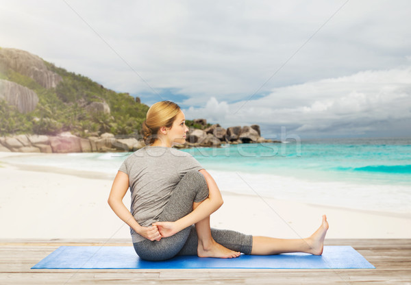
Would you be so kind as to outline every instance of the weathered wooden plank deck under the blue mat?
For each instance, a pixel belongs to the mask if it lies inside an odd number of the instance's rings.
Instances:
[[[130,245],[112,240],[105,245]],[[401,284],[411,285],[411,239],[330,239],[376,269],[30,269],[60,245],[93,240],[0,240],[0,284]]]

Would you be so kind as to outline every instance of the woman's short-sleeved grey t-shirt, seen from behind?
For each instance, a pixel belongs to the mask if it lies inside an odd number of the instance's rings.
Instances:
[[[119,171],[129,177],[130,212],[143,227],[158,221],[175,186],[187,171],[203,169],[190,153],[171,147],[143,147],[125,159]],[[145,238],[131,227],[133,243]]]

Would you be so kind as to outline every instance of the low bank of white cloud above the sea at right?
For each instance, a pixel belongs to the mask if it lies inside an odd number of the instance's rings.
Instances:
[[[310,132],[355,135],[382,130],[382,123],[391,127],[398,120],[411,123],[410,107],[411,67],[404,67],[275,88],[270,95],[247,103],[219,103],[212,98],[205,108],[187,110],[186,117],[212,114],[209,118],[223,127],[238,123],[271,126],[262,128],[266,136],[273,136],[281,126],[302,136]],[[407,132],[402,126],[390,131]]]

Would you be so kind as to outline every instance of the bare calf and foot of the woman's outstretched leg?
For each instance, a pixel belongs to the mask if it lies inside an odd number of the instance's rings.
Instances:
[[[266,236],[253,236],[253,255],[271,255],[288,252],[306,252],[314,255],[323,253],[325,234],[328,230],[327,217],[323,216],[323,222],[314,234],[308,238],[282,239]]]

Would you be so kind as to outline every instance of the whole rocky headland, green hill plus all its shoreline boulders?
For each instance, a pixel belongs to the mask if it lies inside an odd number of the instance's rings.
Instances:
[[[27,51],[0,48],[0,151],[132,151],[149,106]],[[176,147],[264,143],[260,126],[224,129],[186,120],[187,141]]]

